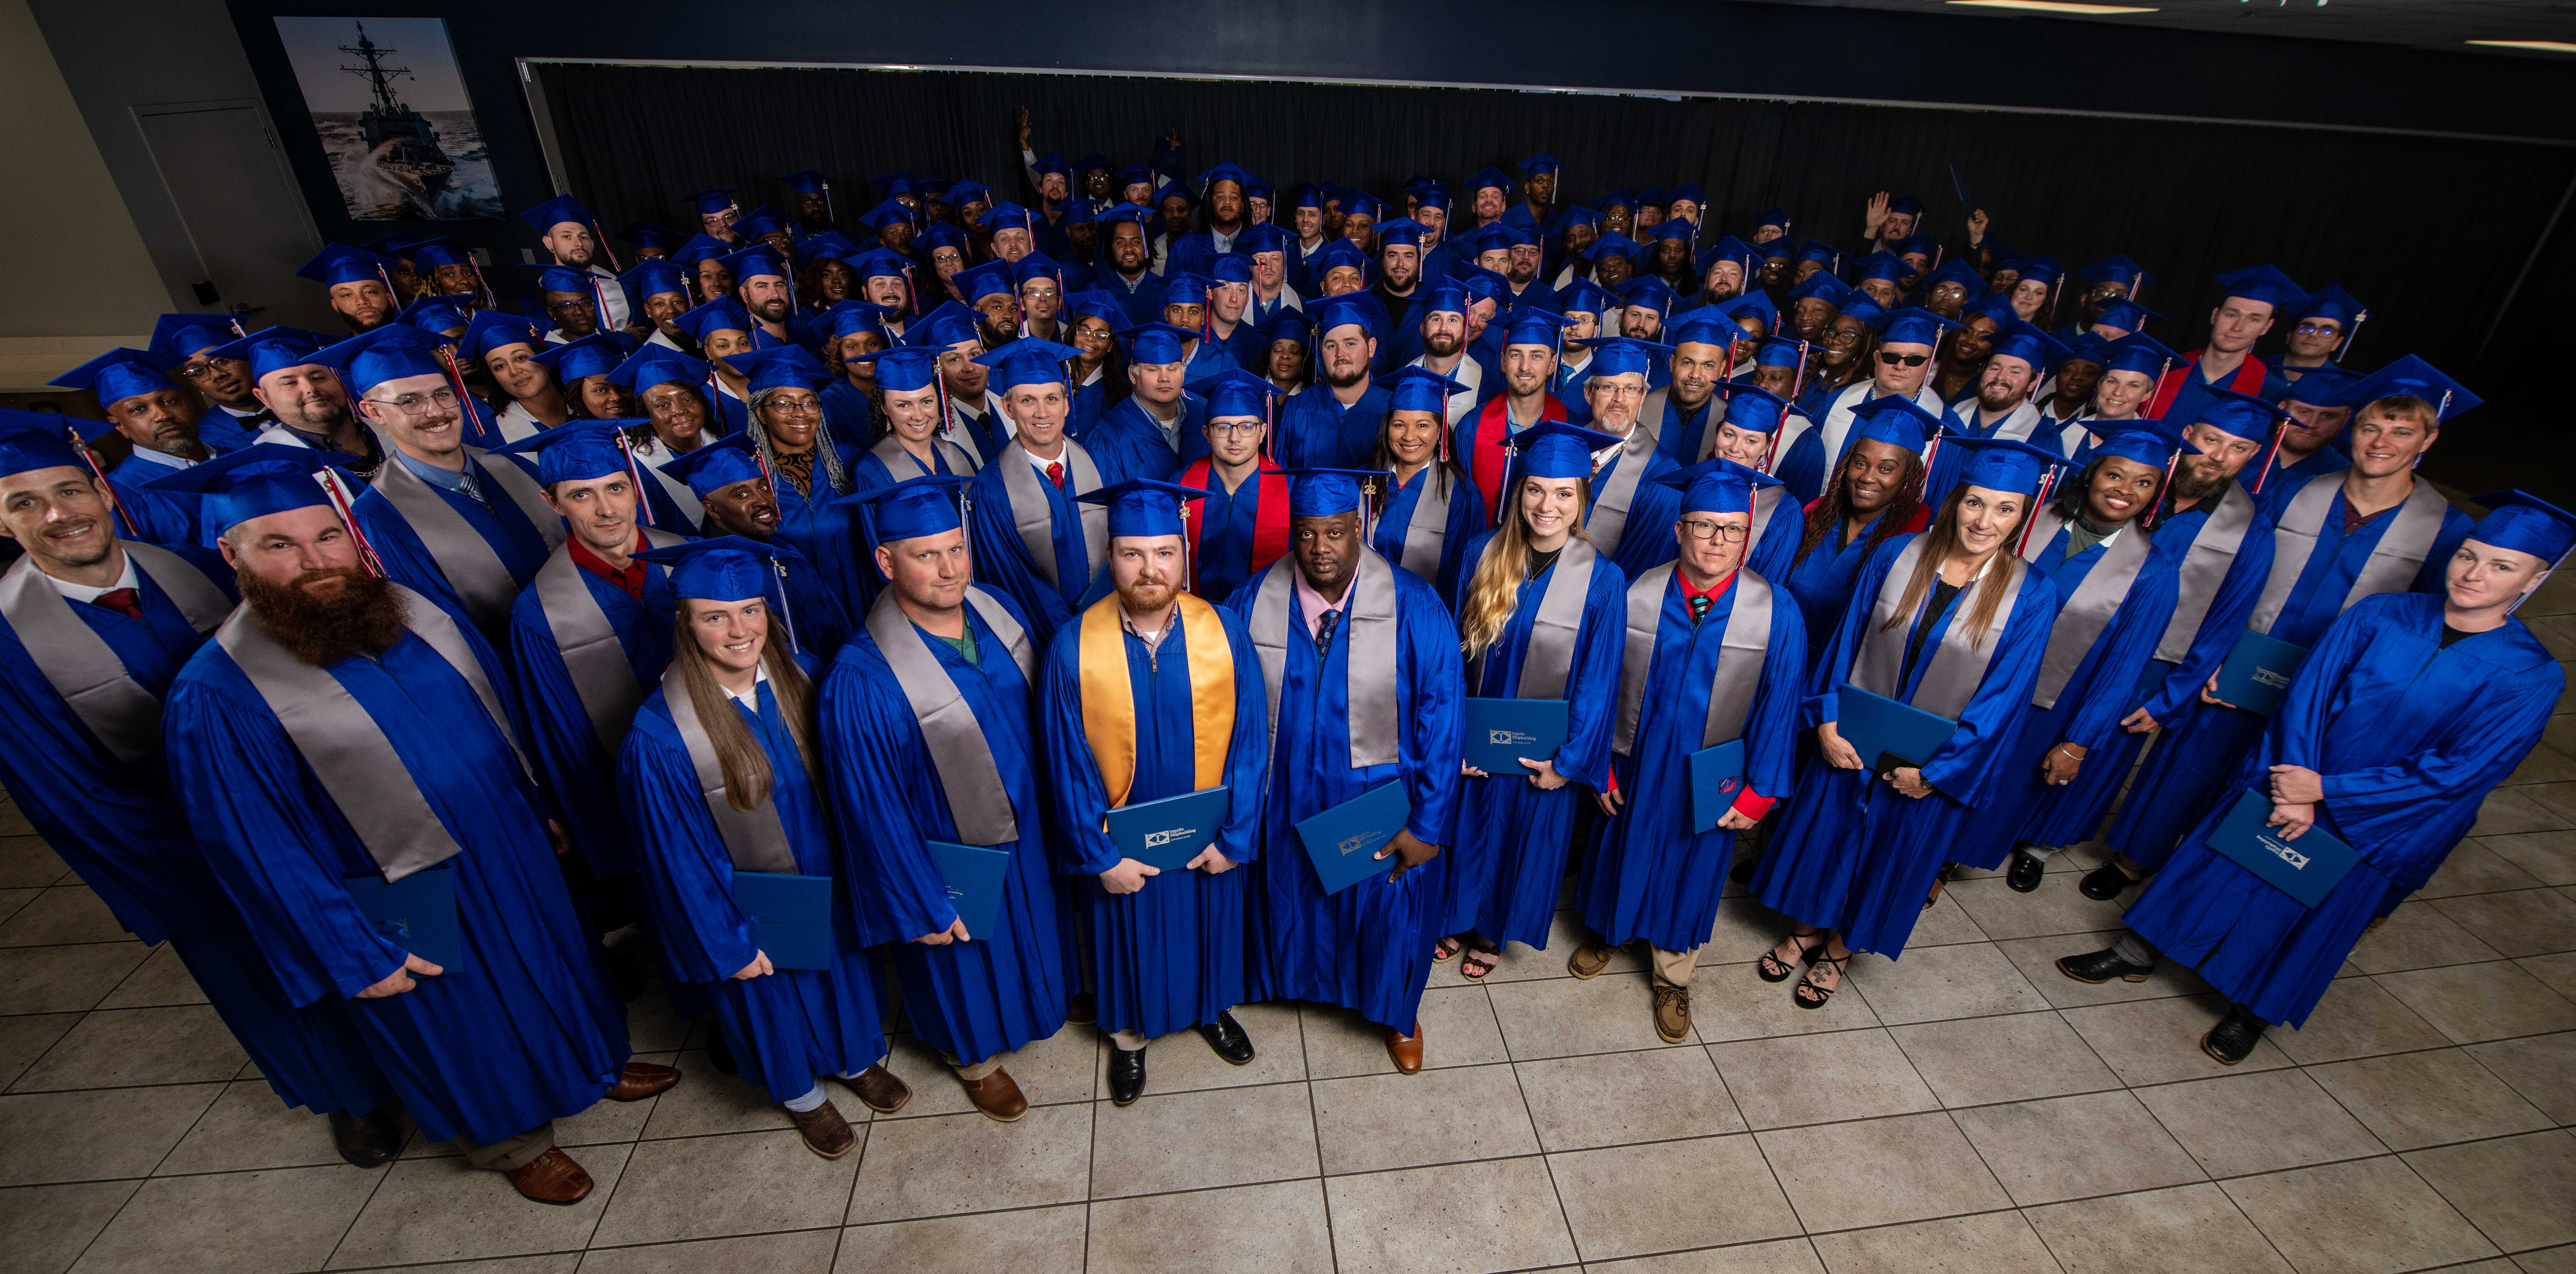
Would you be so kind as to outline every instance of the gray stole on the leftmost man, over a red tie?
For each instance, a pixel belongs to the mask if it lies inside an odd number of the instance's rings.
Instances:
[[[191,629],[206,632],[232,611],[224,591],[185,557],[131,539],[118,544],[134,557],[134,570],[170,593]],[[160,699],[126,673],[126,663],[98,629],[72,614],[72,601],[36,570],[33,557],[21,557],[0,573],[0,619],[18,632],[26,658],[44,673],[46,686],[54,686],[108,756],[139,766],[160,748]]]

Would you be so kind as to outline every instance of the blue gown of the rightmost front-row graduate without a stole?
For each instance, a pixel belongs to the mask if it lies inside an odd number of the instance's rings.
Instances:
[[[2352,603],[2223,799],[2128,908],[2130,928],[2254,1016],[2306,1024],[2380,900],[2432,879],[2566,694],[2566,673],[2519,619],[2450,650],[2439,642],[2439,596]],[[2272,766],[2324,774],[2316,830],[2360,854],[2316,910],[2205,843],[2236,792],[2267,789]]]

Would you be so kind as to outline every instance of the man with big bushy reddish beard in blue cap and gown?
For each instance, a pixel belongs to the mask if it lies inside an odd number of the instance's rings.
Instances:
[[[170,776],[289,1003],[343,1006],[425,1140],[574,1202],[590,1176],[551,1122],[680,1073],[629,1063],[507,665],[451,601],[368,570],[314,459],[245,449],[173,475],[206,490],[242,606],[170,683]],[[453,892],[456,965],[353,895],[422,872],[446,874],[422,905]]]

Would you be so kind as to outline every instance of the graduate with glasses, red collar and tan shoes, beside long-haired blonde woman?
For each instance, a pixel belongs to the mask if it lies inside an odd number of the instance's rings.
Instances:
[[[1747,565],[1754,485],[1713,459],[1667,475],[1682,487],[1674,562],[1638,575],[1620,598],[1625,640],[1610,766],[1595,802],[1592,851],[1574,908],[1595,939],[1566,959],[1574,977],[1600,977],[1610,957],[1643,939],[1654,959],[1654,1029],[1690,1039],[1690,983],[1700,944],[1718,921],[1736,833],[1790,792],[1806,686],[1806,627],[1788,591]],[[1692,830],[1700,799],[1690,756],[1744,745],[1741,774],[1713,792],[1726,812]]]

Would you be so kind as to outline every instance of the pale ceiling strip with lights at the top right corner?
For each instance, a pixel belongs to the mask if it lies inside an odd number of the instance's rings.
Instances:
[[[2004,8],[1953,5],[1945,0],[1770,0],[1808,8],[1878,8],[1904,13],[1953,13],[1960,18],[2048,18],[2105,26],[2161,26],[2172,31],[2215,31],[2231,36],[2349,39],[2370,44],[2414,44],[2496,57],[2540,57],[2568,62],[2576,54],[2478,49],[2473,39],[2548,39],[2576,44],[2576,0],[2107,0],[2151,5],[2156,13],[2074,15]]]

